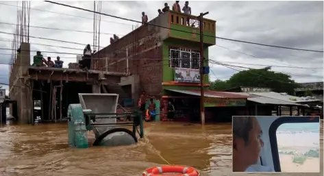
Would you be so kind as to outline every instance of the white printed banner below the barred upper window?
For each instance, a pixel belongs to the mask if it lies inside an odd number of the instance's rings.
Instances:
[[[200,82],[199,69],[192,68],[175,68],[176,82]]]

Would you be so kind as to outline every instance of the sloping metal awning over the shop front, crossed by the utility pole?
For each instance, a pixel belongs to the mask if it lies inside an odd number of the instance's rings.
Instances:
[[[173,92],[179,92],[188,95],[195,95],[200,96],[200,90],[175,90],[175,89],[166,89]],[[247,95],[238,95],[236,92],[217,92],[212,90],[205,90],[204,92],[205,97],[212,97],[212,98],[234,98],[234,99],[247,99]]]

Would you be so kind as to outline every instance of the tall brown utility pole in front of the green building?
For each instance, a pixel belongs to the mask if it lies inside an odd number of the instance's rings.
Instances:
[[[209,12],[200,13],[199,15],[199,29],[200,29],[200,118],[201,125],[205,125],[205,106],[204,106],[204,85],[203,85],[203,16]]]

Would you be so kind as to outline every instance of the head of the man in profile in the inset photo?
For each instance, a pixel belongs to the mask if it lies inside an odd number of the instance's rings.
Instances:
[[[233,172],[245,172],[260,158],[262,129],[253,116],[234,116],[232,124]]]

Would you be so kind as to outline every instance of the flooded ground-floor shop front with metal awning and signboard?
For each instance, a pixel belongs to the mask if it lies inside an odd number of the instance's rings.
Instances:
[[[167,105],[169,101],[175,105],[177,114],[175,121],[200,121],[200,90],[167,89],[166,91],[169,95],[162,97],[162,105]],[[232,116],[248,114],[246,103],[247,96],[205,90],[205,121],[207,123],[230,122]],[[162,106],[162,114],[165,111]],[[161,121],[168,121],[168,119],[162,115]]]

